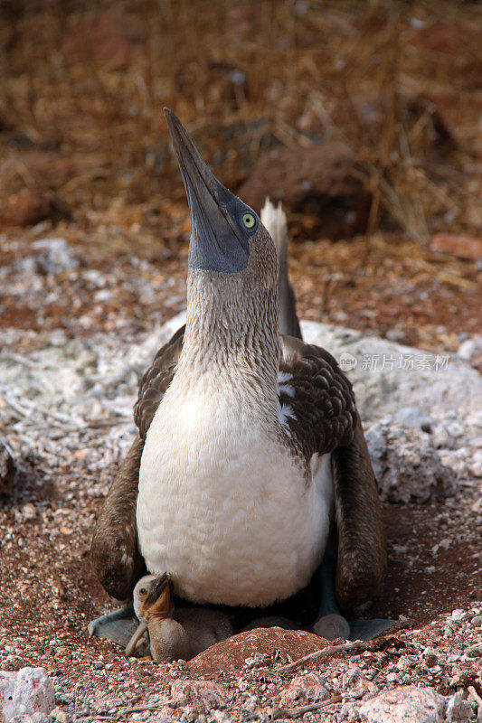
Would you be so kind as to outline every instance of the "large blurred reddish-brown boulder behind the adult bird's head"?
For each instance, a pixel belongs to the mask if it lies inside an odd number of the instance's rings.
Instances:
[[[239,195],[255,210],[269,196],[288,211],[310,213],[325,238],[342,239],[366,230],[372,197],[362,179],[343,144],[279,148],[260,158]]]

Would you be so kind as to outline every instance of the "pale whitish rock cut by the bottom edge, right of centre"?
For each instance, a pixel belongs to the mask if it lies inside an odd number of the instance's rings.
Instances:
[[[445,699],[432,688],[404,685],[366,700],[358,712],[370,723],[442,723],[444,709]]]

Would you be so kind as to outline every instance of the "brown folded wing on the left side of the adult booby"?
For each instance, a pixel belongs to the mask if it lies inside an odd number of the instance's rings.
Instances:
[[[137,546],[139,467],[147,429],[171,383],[183,348],[184,326],[157,353],[146,371],[134,406],[139,436],[130,447],[102,506],[90,547],[90,561],[109,595],[125,600],[146,567]]]

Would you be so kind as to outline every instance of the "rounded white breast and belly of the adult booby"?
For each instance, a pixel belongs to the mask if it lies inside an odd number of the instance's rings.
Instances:
[[[187,400],[188,399],[188,400]],[[250,409],[171,385],[146,437],[137,530],[147,568],[196,602],[261,606],[304,587],[326,546],[329,455],[313,482]]]

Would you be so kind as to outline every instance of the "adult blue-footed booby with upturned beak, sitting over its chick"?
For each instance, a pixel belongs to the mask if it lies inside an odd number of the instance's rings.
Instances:
[[[119,599],[147,569],[168,572],[185,600],[253,607],[317,573],[314,630],[347,637],[337,604],[364,603],[385,568],[352,386],[301,339],[280,211],[263,216],[277,254],[165,114],[191,211],[186,324],[141,382],[139,434],[100,512],[92,564]],[[102,621],[90,631],[104,634]]]

